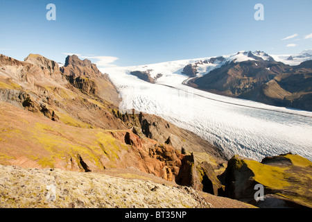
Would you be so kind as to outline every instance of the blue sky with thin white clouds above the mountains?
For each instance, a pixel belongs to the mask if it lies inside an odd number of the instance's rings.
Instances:
[[[48,3],[55,21],[46,19]],[[256,3],[263,21],[254,19]],[[293,54],[312,49],[311,9],[311,0],[1,0],[0,53],[62,63],[76,53],[108,67],[241,50]]]

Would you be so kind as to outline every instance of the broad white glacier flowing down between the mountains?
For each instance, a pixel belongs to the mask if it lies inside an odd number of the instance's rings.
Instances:
[[[235,99],[184,85],[189,77],[181,74],[183,67],[199,60],[202,59],[100,70],[116,85],[122,99],[121,112],[135,109],[156,114],[196,133],[229,158],[241,155],[260,161],[291,152],[312,160],[312,112]],[[219,65],[205,68],[211,70]],[[153,84],[130,75],[130,71],[147,69],[163,76]]]

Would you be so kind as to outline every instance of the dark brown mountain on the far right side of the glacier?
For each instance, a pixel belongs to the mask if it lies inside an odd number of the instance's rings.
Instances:
[[[312,110],[311,60],[290,66],[259,51],[243,52],[243,55],[248,60],[228,61],[204,76],[192,78],[187,84],[216,94]]]

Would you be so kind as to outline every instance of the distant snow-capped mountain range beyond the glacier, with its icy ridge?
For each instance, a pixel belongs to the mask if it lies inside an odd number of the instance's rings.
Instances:
[[[239,51],[229,56],[129,67],[150,83],[166,74],[188,76],[185,85],[268,105],[312,111],[312,50],[293,56]]]

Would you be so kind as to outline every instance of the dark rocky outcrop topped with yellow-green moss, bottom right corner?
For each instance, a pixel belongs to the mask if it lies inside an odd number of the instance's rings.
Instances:
[[[312,162],[287,153],[262,162],[235,155],[224,173],[225,195],[258,207],[312,207]],[[255,198],[263,186],[263,200]]]

